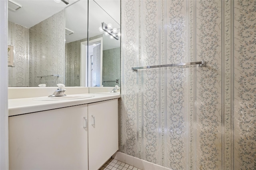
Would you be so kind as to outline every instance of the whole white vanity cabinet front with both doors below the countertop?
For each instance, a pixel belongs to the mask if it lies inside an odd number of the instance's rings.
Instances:
[[[9,168],[97,170],[118,150],[118,99],[9,117]]]

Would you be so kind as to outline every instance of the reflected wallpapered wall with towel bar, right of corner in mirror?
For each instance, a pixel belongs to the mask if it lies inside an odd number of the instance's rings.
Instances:
[[[30,28],[30,86],[36,87],[44,83],[55,87],[58,83],[64,83],[64,23],[64,10],[62,10]],[[60,75],[60,77],[37,77],[44,75]]]

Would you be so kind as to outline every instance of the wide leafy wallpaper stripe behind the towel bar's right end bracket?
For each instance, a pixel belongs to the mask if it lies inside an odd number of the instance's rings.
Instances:
[[[221,167],[221,1],[196,3],[196,59],[206,60],[207,67],[196,74],[196,162],[197,169]],[[210,15],[209,15],[210,13]],[[203,47],[203,48],[200,48]],[[202,128],[203,127],[203,128]]]

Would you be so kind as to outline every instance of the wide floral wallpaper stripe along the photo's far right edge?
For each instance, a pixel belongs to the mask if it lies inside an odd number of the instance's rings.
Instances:
[[[256,167],[256,1],[234,4],[234,164]]]

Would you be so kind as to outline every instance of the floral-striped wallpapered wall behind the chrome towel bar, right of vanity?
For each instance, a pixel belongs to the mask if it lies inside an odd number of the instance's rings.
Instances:
[[[255,168],[256,1],[121,4],[119,150],[175,170]]]

